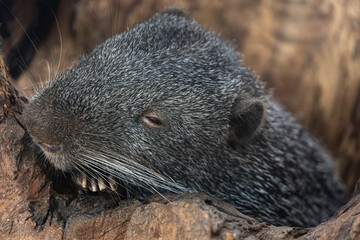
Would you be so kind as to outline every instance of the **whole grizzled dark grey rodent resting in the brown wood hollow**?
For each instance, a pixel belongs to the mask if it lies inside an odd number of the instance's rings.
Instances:
[[[321,146],[234,48],[170,9],[111,37],[33,97],[25,125],[56,168],[128,197],[204,191],[276,225],[346,200]]]

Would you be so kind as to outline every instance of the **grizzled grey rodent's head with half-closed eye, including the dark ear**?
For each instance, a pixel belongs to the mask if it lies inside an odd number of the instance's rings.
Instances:
[[[232,46],[168,10],[84,56],[30,101],[24,121],[61,170],[193,188],[186,176],[209,177],[229,142],[259,132],[263,96]]]

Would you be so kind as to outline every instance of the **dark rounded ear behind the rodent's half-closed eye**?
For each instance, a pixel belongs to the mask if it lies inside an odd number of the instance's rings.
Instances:
[[[230,118],[230,140],[245,142],[254,137],[264,122],[265,107],[261,99],[235,101]]]

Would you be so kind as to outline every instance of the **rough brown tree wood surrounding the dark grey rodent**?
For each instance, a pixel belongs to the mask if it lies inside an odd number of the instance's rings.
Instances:
[[[14,11],[26,28],[31,8],[20,2]],[[55,24],[18,89],[28,87],[29,79],[44,81],[45,61],[52,67],[49,80],[58,66],[61,72],[63,64],[71,65],[106,36],[169,5],[183,7],[233,41],[275,96],[336,154],[352,188],[360,176],[358,0],[63,0],[58,10],[63,50]],[[23,35],[15,21],[11,27],[14,35],[5,50]],[[59,192],[18,123],[24,102],[8,81],[1,56],[0,239],[360,239],[360,194],[328,222],[299,229],[258,223],[204,194],[168,196],[168,203],[156,196],[139,202]]]

